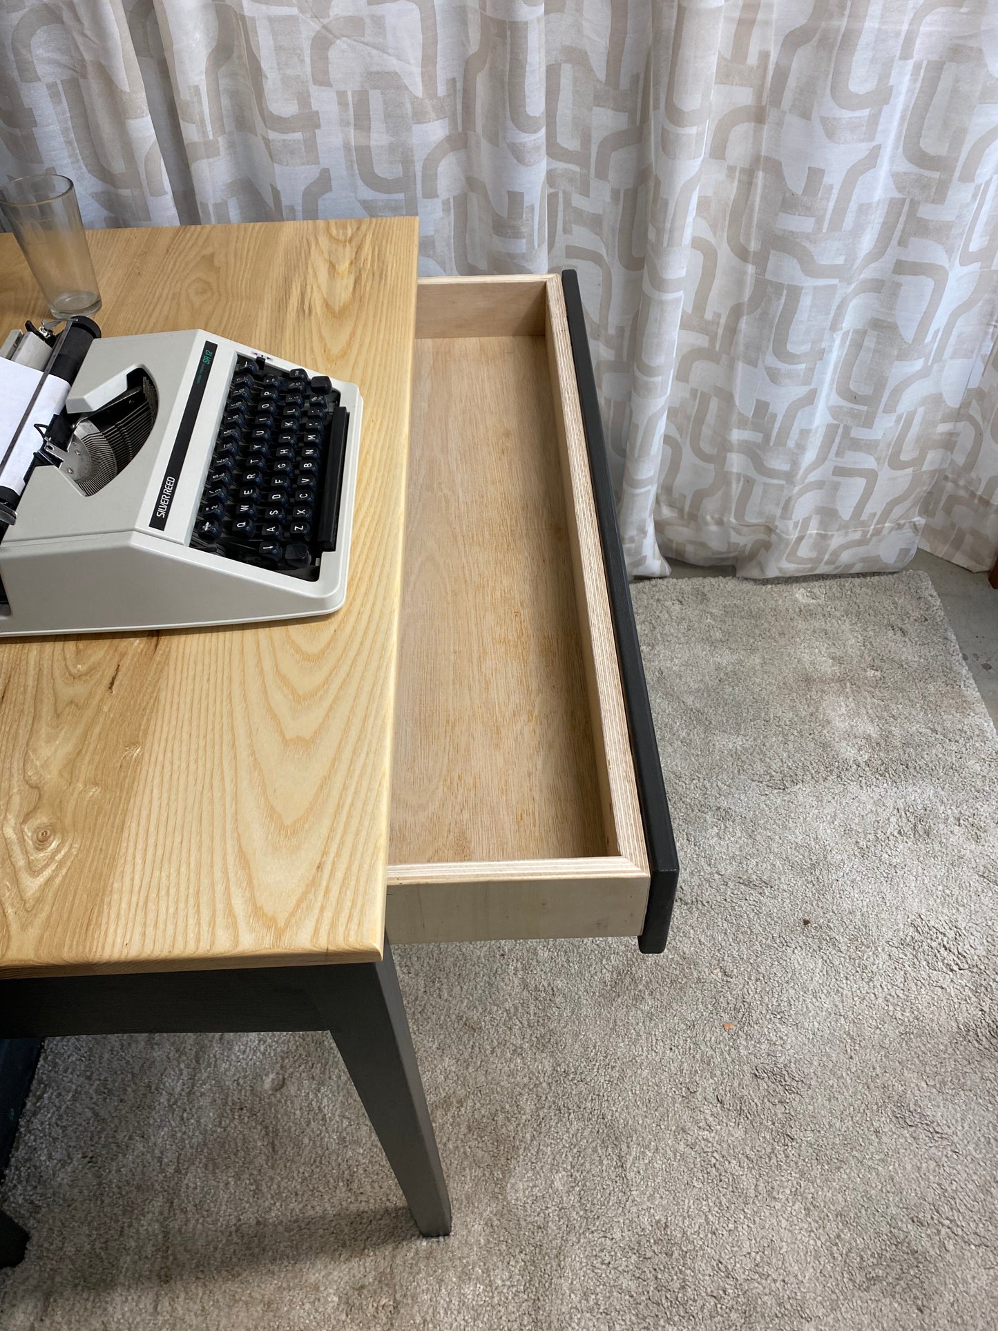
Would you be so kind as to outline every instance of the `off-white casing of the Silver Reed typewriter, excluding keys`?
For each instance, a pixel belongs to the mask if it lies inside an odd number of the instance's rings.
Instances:
[[[134,457],[96,492],[75,480],[72,449],[59,465],[31,471],[0,542],[9,604],[0,636],[238,624],[343,604],[363,407],[353,383],[331,381],[349,429],[335,548],[318,556],[318,567],[263,567],[192,544],[240,357],[267,371],[295,369],[201,329],[90,345],[69,387],[71,418],[120,398],[141,369],[156,386],[154,421]]]

